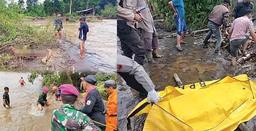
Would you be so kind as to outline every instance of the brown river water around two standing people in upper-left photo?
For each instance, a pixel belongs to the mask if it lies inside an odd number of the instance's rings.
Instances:
[[[53,28],[53,20],[30,21],[32,24],[39,25],[42,28],[50,24]],[[61,47],[55,50],[58,57],[50,59],[49,70],[62,70],[59,64],[70,64],[68,68],[73,68],[76,72],[116,72],[116,20],[103,20],[102,22],[88,22],[89,32],[85,41],[85,57],[79,58],[79,39],[77,22],[63,22]],[[54,35],[54,33],[52,34]],[[58,38],[58,36],[57,36]],[[31,69],[44,70],[46,65],[41,65],[41,59],[27,62]],[[38,66],[39,65],[39,66]],[[64,66],[63,66],[64,67]]]

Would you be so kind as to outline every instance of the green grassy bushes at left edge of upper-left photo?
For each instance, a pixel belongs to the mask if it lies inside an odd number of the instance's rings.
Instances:
[[[46,47],[55,46],[57,43],[52,39],[53,29],[34,26],[23,22],[23,15],[17,4],[9,4],[6,7],[5,0],[0,0],[0,66],[3,68],[21,67],[14,62],[17,57],[10,51],[12,47]],[[16,65],[14,63],[17,63]]]

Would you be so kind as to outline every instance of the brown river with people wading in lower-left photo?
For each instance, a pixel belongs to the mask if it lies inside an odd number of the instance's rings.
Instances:
[[[38,112],[36,102],[41,94],[41,78],[34,81],[34,85],[28,82],[30,73],[0,72],[0,93],[3,88],[9,87],[11,109],[3,107],[3,99],[0,100],[0,131],[50,131],[52,111],[61,106],[54,98],[50,100],[51,106]],[[20,86],[19,80],[23,77],[26,84]],[[50,96],[48,92],[47,97]]]

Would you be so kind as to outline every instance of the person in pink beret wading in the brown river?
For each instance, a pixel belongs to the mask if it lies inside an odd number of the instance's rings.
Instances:
[[[41,95],[39,95],[38,97],[38,101],[37,101],[37,106],[38,106],[38,110],[43,111],[43,107],[44,106],[49,106],[49,102],[47,102],[47,92],[48,92],[48,88],[44,87],[43,88],[43,92]]]

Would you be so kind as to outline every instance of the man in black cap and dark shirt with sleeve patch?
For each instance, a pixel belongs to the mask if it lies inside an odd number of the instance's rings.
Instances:
[[[99,91],[97,90],[96,85],[96,78],[93,75],[87,75],[84,77],[83,87],[84,90],[87,90],[84,98],[82,98],[82,102],[84,102],[84,107],[81,111],[84,114],[87,114],[92,120],[106,124],[105,114],[104,112],[104,103],[100,96]],[[100,125],[98,123],[94,123],[98,126],[102,131],[105,131],[105,126]]]

